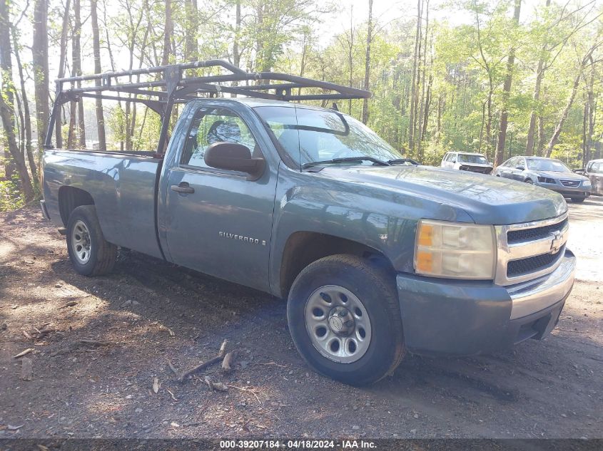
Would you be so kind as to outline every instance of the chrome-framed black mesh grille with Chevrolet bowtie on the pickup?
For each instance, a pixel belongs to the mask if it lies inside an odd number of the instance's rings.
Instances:
[[[495,283],[507,286],[537,279],[554,271],[565,254],[567,213],[552,219],[495,226]]]

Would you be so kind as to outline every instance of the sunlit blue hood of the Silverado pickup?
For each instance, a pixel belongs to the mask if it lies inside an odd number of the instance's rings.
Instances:
[[[567,211],[562,195],[514,180],[430,166],[328,166],[322,177],[463,209],[476,224],[517,224]],[[440,219],[440,218],[430,218]]]

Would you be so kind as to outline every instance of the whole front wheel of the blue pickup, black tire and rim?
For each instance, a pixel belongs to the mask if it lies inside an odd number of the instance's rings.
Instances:
[[[287,319],[305,361],[343,383],[374,383],[406,353],[395,276],[358,256],[327,256],[303,269],[290,289]]]

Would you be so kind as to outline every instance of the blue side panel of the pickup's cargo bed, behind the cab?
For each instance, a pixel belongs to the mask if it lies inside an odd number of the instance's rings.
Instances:
[[[76,188],[91,195],[108,242],[162,258],[156,230],[156,181],[161,159],[154,152],[46,150],[44,199],[52,221],[65,227],[59,197]]]

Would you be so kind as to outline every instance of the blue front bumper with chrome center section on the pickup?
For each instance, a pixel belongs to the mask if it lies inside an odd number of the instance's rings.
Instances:
[[[576,257],[565,251],[551,274],[514,286],[398,274],[406,346],[413,353],[489,353],[554,328],[572,291]]]

